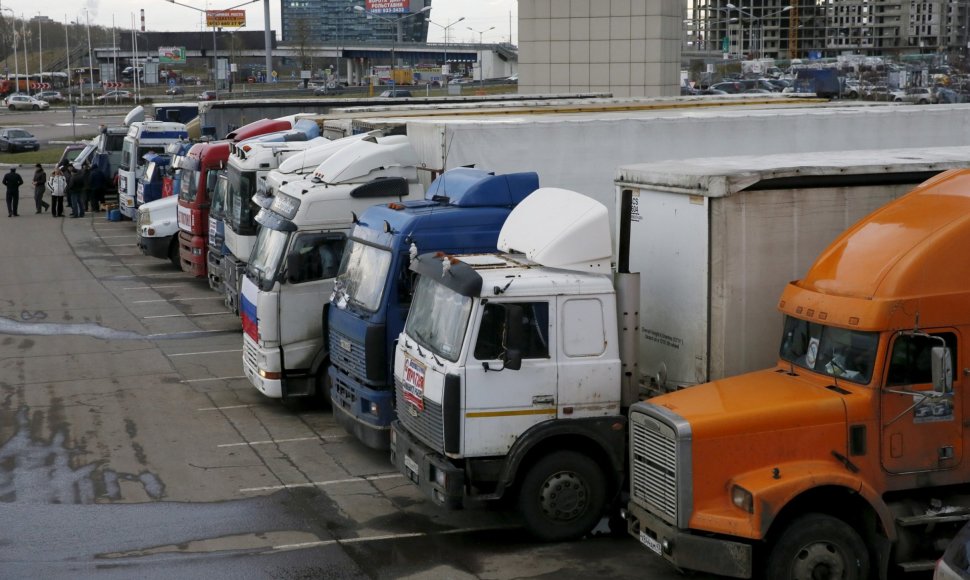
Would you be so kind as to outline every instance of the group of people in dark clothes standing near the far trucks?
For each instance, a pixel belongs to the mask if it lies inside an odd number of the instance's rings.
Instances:
[[[20,203],[20,186],[24,180],[17,173],[16,167],[3,176],[3,185],[7,188],[7,217],[17,217]],[[95,165],[85,163],[81,169],[76,169],[70,163],[62,163],[51,172],[50,178],[40,163],[34,171],[32,184],[34,186],[34,213],[43,213],[50,209],[52,217],[64,217],[64,198],[67,197],[70,217],[84,217],[88,208],[90,211],[100,211],[104,202],[104,190],[108,180],[104,172]],[[51,203],[44,201],[45,192],[50,192]]]

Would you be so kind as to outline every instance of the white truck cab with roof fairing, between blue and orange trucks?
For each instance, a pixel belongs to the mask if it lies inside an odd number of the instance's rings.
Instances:
[[[515,494],[547,540],[586,533],[623,477],[609,216],[541,188],[502,253],[419,256],[394,361],[394,465],[435,503]]]

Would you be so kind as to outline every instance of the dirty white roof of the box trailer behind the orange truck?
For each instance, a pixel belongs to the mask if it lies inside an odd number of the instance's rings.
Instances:
[[[615,177],[620,186],[727,197],[769,180],[945,171],[968,163],[970,147],[865,149],[674,159],[624,165]]]

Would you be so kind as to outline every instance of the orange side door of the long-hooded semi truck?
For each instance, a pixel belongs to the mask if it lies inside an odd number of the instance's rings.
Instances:
[[[955,331],[933,331],[950,348],[953,369],[962,368]],[[930,349],[939,340],[900,333],[893,337],[882,388],[882,464],[890,473],[952,469],[963,456],[962,373],[954,372],[950,397],[932,390]]]

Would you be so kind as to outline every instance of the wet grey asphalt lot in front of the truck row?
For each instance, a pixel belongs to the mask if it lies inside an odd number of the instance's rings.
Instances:
[[[626,536],[435,508],[328,410],[252,388],[239,320],[133,230],[26,187],[0,217],[0,578],[679,577]]]

